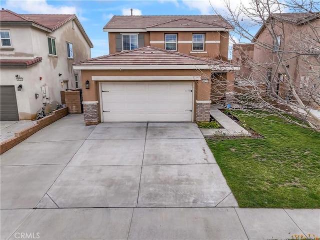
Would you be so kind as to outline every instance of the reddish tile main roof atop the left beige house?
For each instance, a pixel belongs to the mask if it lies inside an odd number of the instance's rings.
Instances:
[[[10,10],[0,11],[1,23],[35,23],[51,31],[76,18],[74,14],[16,14]]]

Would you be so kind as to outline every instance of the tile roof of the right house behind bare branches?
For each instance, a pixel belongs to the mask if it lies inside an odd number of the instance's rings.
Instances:
[[[283,20],[298,25],[316,18],[320,18],[320,13],[281,13],[271,14],[270,16],[277,20]]]

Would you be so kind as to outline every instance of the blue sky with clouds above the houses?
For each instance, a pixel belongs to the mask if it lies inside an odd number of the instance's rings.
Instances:
[[[108,54],[107,33],[103,26],[113,15],[212,15],[212,7],[222,16],[223,0],[149,0],[149,1],[47,1],[47,0],[0,0],[1,8],[18,14],[76,14],[94,48],[91,57]],[[233,2],[234,1],[234,2]],[[248,5],[250,0],[242,0]],[[232,0],[232,5],[239,4]],[[212,6],[212,7],[211,7]],[[252,31],[257,31],[257,27]],[[236,39],[236,37],[235,37]]]

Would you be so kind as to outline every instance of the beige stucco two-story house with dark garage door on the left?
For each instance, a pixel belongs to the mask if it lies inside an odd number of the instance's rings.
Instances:
[[[0,11],[1,120],[34,120],[60,91],[80,88],[72,63],[90,58],[92,43],[75,15]]]

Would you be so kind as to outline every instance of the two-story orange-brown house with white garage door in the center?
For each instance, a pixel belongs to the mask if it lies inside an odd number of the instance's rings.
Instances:
[[[85,123],[209,121],[211,77],[233,81],[232,30],[221,16],[112,17],[103,28],[110,55],[73,67],[89,85]]]

